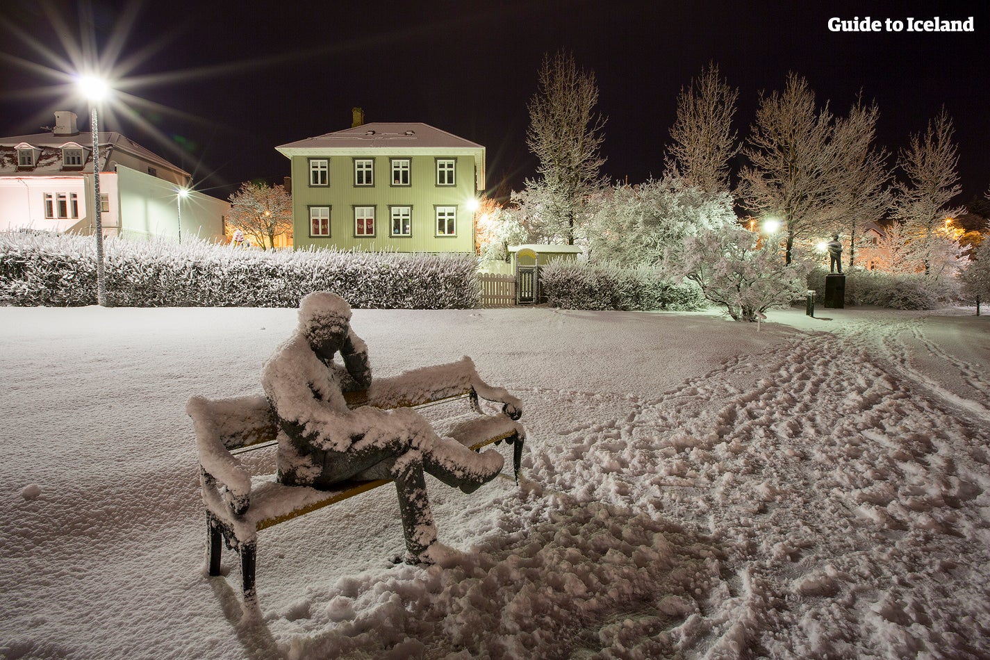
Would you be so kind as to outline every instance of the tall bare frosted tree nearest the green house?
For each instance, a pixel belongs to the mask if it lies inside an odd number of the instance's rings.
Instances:
[[[605,119],[594,111],[598,86],[594,72],[578,69],[574,55],[545,55],[540,88],[530,100],[526,144],[540,159],[537,171],[545,190],[556,200],[554,222],[568,244],[584,197],[601,182],[605,163],[599,149]],[[527,186],[537,182],[527,181]]]

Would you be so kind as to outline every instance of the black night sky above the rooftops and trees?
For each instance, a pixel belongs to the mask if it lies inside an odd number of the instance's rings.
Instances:
[[[567,48],[597,77],[608,117],[605,172],[616,180],[662,173],[677,93],[714,60],[740,88],[743,137],[760,91],[781,89],[790,70],[836,111],[859,90],[875,99],[879,142],[895,152],[944,105],[959,145],[956,201],[987,191],[990,3],[749,4],[155,0],[129,14],[134,3],[55,2],[47,12],[39,2],[3,0],[0,134],[37,133],[59,109],[88,126],[85,103],[26,62],[69,60],[63,42],[95,36],[101,51],[120,44],[117,61],[133,62],[121,86],[140,99],[108,114],[101,129],[180,164],[218,197],[248,179],[281,182],[289,162],[274,147],[348,128],[352,106],[367,121],[425,122],[479,142],[491,192],[520,189],[535,174],[525,135],[537,70],[546,52]],[[64,27],[53,27],[52,14]],[[91,21],[80,27],[80,15]],[[832,17],[866,16],[972,16],[975,32],[829,30]]]

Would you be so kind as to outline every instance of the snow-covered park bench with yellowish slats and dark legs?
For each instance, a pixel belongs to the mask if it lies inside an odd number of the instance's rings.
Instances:
[[[518,422],[522,416],[519,400],[502,388],[490,387],[482,382],[469,358],[446,366],[456,367],[463,375],[445,389],[410,395],[403,387],[404,377],[413,377],[405,378],[407,381],[416,380],[416,374],[407,372],[394,379],[383,379],[380,387],[376,382],[366,391],[345,392],[347,407],[423,410],[464,400],[469,404],[466,414],[448,415],[435,423],[438,434],[453,437],[474,450],[502,440],[512,444],[518,483],[526,438],[523,425]],[[482,410],[479,398],[502,404],[501,412],[492,414]],[[280,432],[275,413],[264,396],[214,400],[193,397],[186,412],[193,420],[199,452],[200,482],[208,525],[209,574],[220,575],[222,542],[236,550],[241,556],[246,603],[254,600],[254,565],[259,530],[305,516],[392,481],[387,473],[382,473],[373,475],[380,478],[351,480],[335,484],[329,490],[318,490],[280,484],[275,474],[250,475],[238,455],[277,446]]]

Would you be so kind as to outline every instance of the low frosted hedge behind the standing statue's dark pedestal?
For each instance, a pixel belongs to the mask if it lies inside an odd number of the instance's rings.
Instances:
[[[808,274],[808,288],[824,300],[825,268]],[[849,305],[876,305],[892,310],[935,310],[955,303],[955,282],[946,277],[891,274],[856,268],[845,275],[845,299]]]

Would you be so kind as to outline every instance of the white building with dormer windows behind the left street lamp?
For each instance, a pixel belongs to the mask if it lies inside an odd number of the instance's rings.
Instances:
[[[56,112],[51,133],[0,138],[0,231],[92,234],[93,141],[76,115]],[[202,193],[181,200],[192,177],[119,133],[101,133],[100,221],[105,236],[224,240],[231,205]]]

